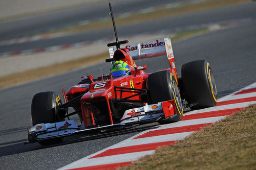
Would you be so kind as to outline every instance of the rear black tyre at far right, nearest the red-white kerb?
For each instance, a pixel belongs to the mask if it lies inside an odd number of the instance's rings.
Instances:
[[[181,75],[188,104],[196,104],[191,110],[215,106],[217,87],[210,64],[205,60],[183,64]]]

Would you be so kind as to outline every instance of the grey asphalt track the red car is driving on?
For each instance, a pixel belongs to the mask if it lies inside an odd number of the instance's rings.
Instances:
[[[183,63],[206,59],[214,70],[219,97],[256,81],[256,20],[236,27],[207,33],[173,43],[177,69]],[[166,57],[143,59],[136,62],[147,65],[147,72],[167,68]],[[56,169],[80,158],[129,138],[157,124],[148,124],[118,132],[93,135],[75,135],[61,144],[42,147],[38,143],[24,145],[26,127],[31,124],[30,105],[33,95],[41,91],[68,89],[86,74],[106,74],[111,65],[98,63],[90,67],[66,72],[0,90],[0,168],[1,169]]]

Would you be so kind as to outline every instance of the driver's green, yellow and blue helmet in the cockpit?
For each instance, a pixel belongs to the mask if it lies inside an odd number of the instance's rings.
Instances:
[[[119,78],[129,75],[131,72],[129,65],[124,61],[115,61],[111,67],[111,75],[113,78]]]

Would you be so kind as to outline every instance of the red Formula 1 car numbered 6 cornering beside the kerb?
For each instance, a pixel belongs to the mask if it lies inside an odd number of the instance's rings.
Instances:
[[[116,34],[114,19],[113,25]],[[31,106],[33,125],[28,127],[29,143],[51,144],[82,132],[152,122],[178,122],[184,108],[216,105],[217,88],[208,62],[198,60],[183,64],[182,77],[178,78],[169,38],[121,45],[124,43],[127,41],[118,41],[116,36],[116,42],[108,44],[116,47],[110,48],[110,59],[106,62],[126,62],[130,75],[119,78],[107,75],[97,80],[93,76],[84,76],[67,93],[62,89],[63,103],[56,92],[34,95]],[[145,73],[146,65],[137,66],[134,61],[163,55],[166,55],[170,68],[153,73]],[[69,113],[69,107],[75,111]],[[78,114],[81,125],[69,119],[74,114]]]

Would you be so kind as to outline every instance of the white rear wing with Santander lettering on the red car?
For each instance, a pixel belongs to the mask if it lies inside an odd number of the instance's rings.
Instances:
[[[166,55],[170,67],[176,71],[173,48],[172,43],[170,42],[170,38],[156,39],[154,41],[132,45],[120,45],[120,48],[126,48],[134,60]],[[109,48],[110,58],[113,58],[115,51],[116,47]]]

